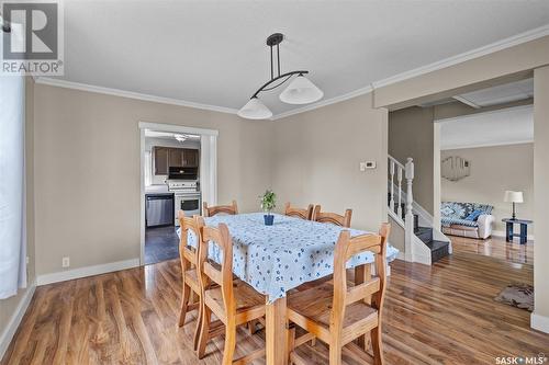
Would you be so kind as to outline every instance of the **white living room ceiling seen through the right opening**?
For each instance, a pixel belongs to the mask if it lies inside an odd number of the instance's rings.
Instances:
[[[437,122],[440,123],[440,149],[512,145],[534,140],[531,105]]]

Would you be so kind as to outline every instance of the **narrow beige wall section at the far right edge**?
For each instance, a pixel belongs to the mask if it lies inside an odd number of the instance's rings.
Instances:
[[[549,67],[534,71],[534,219],[538,227],[549,227]],[[536,231],[534,244],[534,313],[545,317],[549,331],[549,230]]]

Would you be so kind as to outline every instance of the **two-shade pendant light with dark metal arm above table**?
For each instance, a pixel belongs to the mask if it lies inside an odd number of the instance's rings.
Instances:
[[[293,76],[293,78],[288,88],[280,94],[280,100],[288,104],[309,104],[324,96],[324,93],[318,89],[311,80],[305,78],[309,73],[306,70],[291,71],[280,75],[280,49],[279,45],[284,39],[283,34],[274,33],[267,38],[267,45],[270,47],[271,52],[271,79],[267,81],[261,88],[259,88],[250,100],[244,105],[239,111],[238,115],[243,118],[248,119],[267,119],[272,116],[272,112],[258,99],[258,95],[262,91],[273,90]],[[277,70],[278,76],[274,77],[274,65],[272,60],[272,48],[277,47]],[[278,82],[278,83],[277,83]],[[276,84],[273,84],[276,83]]]

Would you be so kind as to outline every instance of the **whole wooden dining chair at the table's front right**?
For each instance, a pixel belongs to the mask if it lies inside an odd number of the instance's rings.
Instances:
[[[288,319],[306,331],[300,338],[294,338],[295,329],[290,331],[293,335],[289,339],[292,364],[306,363],[294,350],[314,338],[329,346],[330,365],[341,364],[341,351],[359,362],[383,364],[381,320],[390,228],[389,224],[383,224],[379,235],[352,238],[348,230],[341,231],[334,251],[333,281],[288,296]],[[374,254],[377,275],[371,276],[371,264],[360,265],[352,285],[347,281],[347,261],[365,251]],[[367,333],[371,338],[373,355],[367,352]]]

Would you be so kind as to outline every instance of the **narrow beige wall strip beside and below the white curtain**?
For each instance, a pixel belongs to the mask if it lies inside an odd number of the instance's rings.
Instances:
[[[32,78],[26,78],[25,82],[25,163],[26,163],[26,255],[29,256],[29,265],[26,266],[27,288],[19,290],[18,295],[0,300],[0,338],[2,338],[7,326],[12,316],[15,313],[23,296],[35,283],[35,249],[34,249],[34,81]],[[0,356],[1,357],[1,356]]]

